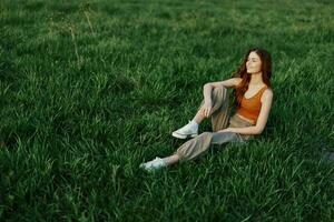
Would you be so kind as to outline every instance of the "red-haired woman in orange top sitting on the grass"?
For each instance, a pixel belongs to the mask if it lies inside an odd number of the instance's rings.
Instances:
[[[248,50],[232,79],[204,85],[204,101],[194,119],[171,133],[178,139],[193,139],[185,142],[173,155],[156,158],[141,163],[140,168],[151,171],[179,161],[193,160],[207,151],[212,144],[245,143],[254,135],[261,134],[272,108],[271,75],[271,54],[264,49]],[[227,88],[234,88],[236,103],[236,113],[230,119]],[[214,132],[197,135],[199,123],[208,117],[212,118]]]

